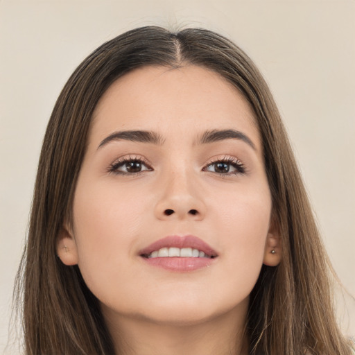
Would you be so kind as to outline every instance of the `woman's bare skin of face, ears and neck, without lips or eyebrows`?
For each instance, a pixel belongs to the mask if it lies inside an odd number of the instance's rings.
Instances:
[[[198,144],[206,130],[230,129],[254,148],[241,139]],[[164,144],[113,140],[98,148],[121,130],[153,131]],[[73,225],[63,226],[58,254],[66,265],[78,264],[117,350],[245,354],[250,291],[262,264],[276,266],[281,257],[262,153],[250,106],[207,69],[144,67],[105,92],[78,178]],[[122,157],[147,164],[131,175],[110,171]],[[218,173],[211,163],[225,157],[245,172],[230,164]],[[148,265],[139,250],[172,234],[198,236],[218,257],[192,272]]]

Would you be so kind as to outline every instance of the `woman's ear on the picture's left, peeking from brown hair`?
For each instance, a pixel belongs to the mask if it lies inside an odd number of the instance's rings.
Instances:
[[[57,236],[57,255],[64,265],[76,265],[79,261],[78,250],[72,229],[67,223],[60,229]]]

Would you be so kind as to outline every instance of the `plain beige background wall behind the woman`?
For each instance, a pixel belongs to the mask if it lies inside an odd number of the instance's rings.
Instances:
[[[37,159],[64,82],[130,28],[202,26],[239,44],[270,84],[338,276],[355,295],[354,0],[0,0],[0,351]],[[355,301],[339,319],[355,335]],[[6,354],[15,354],[8,350]]]

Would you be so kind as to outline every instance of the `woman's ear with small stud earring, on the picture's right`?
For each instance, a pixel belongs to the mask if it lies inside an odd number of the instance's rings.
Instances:
[[[271,218],[268,236],[266,237],[263,263],[267,266],[279,265],[282,258],[281,238],[276,219]]]

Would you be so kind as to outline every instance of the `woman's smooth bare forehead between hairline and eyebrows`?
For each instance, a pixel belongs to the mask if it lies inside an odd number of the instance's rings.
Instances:
[[[116,80],[101,97],[93,115],[92,135],[103,138],[114,130],[235,128],[259,143],[259,132],[248,101],[214,71],[188,65],[179,69],[142,67]],[[94,137],[95,138],[95,137]]]

